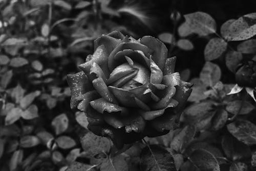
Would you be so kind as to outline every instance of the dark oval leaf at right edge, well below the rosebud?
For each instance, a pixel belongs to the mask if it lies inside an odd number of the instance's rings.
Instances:
[[[256,144],[256,126],[248,120],[236,120],[227,125],[228,131],[247,145]]]

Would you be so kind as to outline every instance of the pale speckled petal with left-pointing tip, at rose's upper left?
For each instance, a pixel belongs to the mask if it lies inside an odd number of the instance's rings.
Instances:
[[[86,63],[80,64],[78,67],[83,70],[87,75],[89,75],[92,64],[97,63],[103,70],[106,77],[109,77],[110,71],[108,69],[108,53],[104,45],[100,45],[95,50],[94,54],[87,59]]]

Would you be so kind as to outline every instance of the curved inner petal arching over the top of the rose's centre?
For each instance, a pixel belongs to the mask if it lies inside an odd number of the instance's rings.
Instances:
[[[120,43],[116,46],[116,48],[111,52],[111,54],[109,56],[108,66],[109,66],[110,70],[113,70],[115,68],[115,66],[118,65],[115,62],[115,56],[118,52],[121,52],[123,50],[142,51],[146,57],[149,57],[152,52],[152,50],[150,48],[148,48],[147,46],[140,44],[140,43],[134,43],[134,42]],[[127,55],[127,54],[124,54],[124,55],[129,56],[131,59],[133,59],[132,56],[130,56],[130,55]],[[116,57],[116,58],[119,58],[119,57]],[[124,56],[123,56],[123,60],[125,61]]]

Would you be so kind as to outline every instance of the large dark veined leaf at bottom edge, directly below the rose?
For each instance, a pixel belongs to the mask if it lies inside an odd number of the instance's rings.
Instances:
[[[151,150],[150,150],[151,149]],[[146,146],[141,153],[140,168],[141,171],[175,171],[176,166],[173,156],[161,146]]]

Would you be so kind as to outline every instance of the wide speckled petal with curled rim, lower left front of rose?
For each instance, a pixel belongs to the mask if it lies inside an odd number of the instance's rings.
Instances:
[[[115,112],[115,113],[120,113],[121,115],[128,114],[128,110],[126,108],[110,103],[103,98],[91,101],[90,104],[93,109],[95,109],[101,114],[104,114],[105,112],[108,112],[108,113]]]

